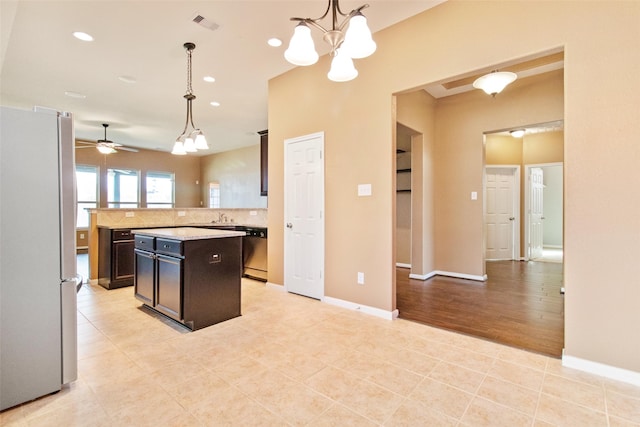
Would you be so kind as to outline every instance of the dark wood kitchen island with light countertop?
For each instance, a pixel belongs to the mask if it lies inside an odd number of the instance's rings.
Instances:
[[[195,331],[240,316],[242,231],[132,230],[134,295]]]

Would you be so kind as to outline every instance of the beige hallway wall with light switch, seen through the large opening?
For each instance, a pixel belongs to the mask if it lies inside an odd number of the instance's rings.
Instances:
[[[495,98],[476,90],[438,99],[435,145],[436,269],[484,276],[485,132],[561,120],[562,70],[522,79]],[[487,162],[489,163],[489,162]],[[478,200],[471,200],[471,192]]]

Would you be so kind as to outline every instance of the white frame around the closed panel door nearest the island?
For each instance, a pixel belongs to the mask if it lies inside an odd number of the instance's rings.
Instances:
[[[318,190],[320,194],[316,194],[317,200],[319,200],[319,204],[322,207],[321,209],[321,221],[319,221],[319,229],[317,230],[317,236],[321,239],[320,242],[318,243],[318,247],[317,247],[317,251],[319,252],[318,254],[316,254],[319,258],[317,259],[317,263],[318,266],[320,268],[320,294],[321,295],[315,295],[312,297],[317,297],[318,299],[322,300],[324,298],[324,292],[325,292],[325,288],[324,288],[324,252],[325,252],[325,222],[324,222],[324,213],[325,213],[325,206],[324,206],[324,199],[325,199],[325,187],[324,187],[324,176],[325,176],[325,160],[324,160],[324,132],[316,132],[316,133],[312,133],[309,135],[303,135],[303,136],[299,136],[299,137],[295,137],[295,138],[288,138],[284,140],[284,189],[285,189],[285,194],[284,194],[284,222],[285,222],[285,228],[284,228],[284,260],[283,260],[283,264],[284,264],[284,288],[285,291],[289,292],[289,288],[288,288],[288,277],[290,277],[290,269],[291,269],[291,248],[288,247],[289,246],[289,233],[288,233],[288,227],[289,224],[291,224],[291,222],[293,222],[290,218],[289,218],[289,195],[287,193],[287,185],[288,185],[288,180],[290,179],[289,174],[291,173],[290,168],[289,168],[289,157],[288,157],[288,145],[290,144],[295,144],[295,143],[299,143],[301,141],[305,141],[305,140],[309,140],[309,139],[315,139],[315,138],[319,138],[320,139],[320,150],[321,150],[321,167],[320,167],[320,171],[319,171],[319,175],[320,175],[320,189]],[[308,295],[311,296],[311,295]]]

